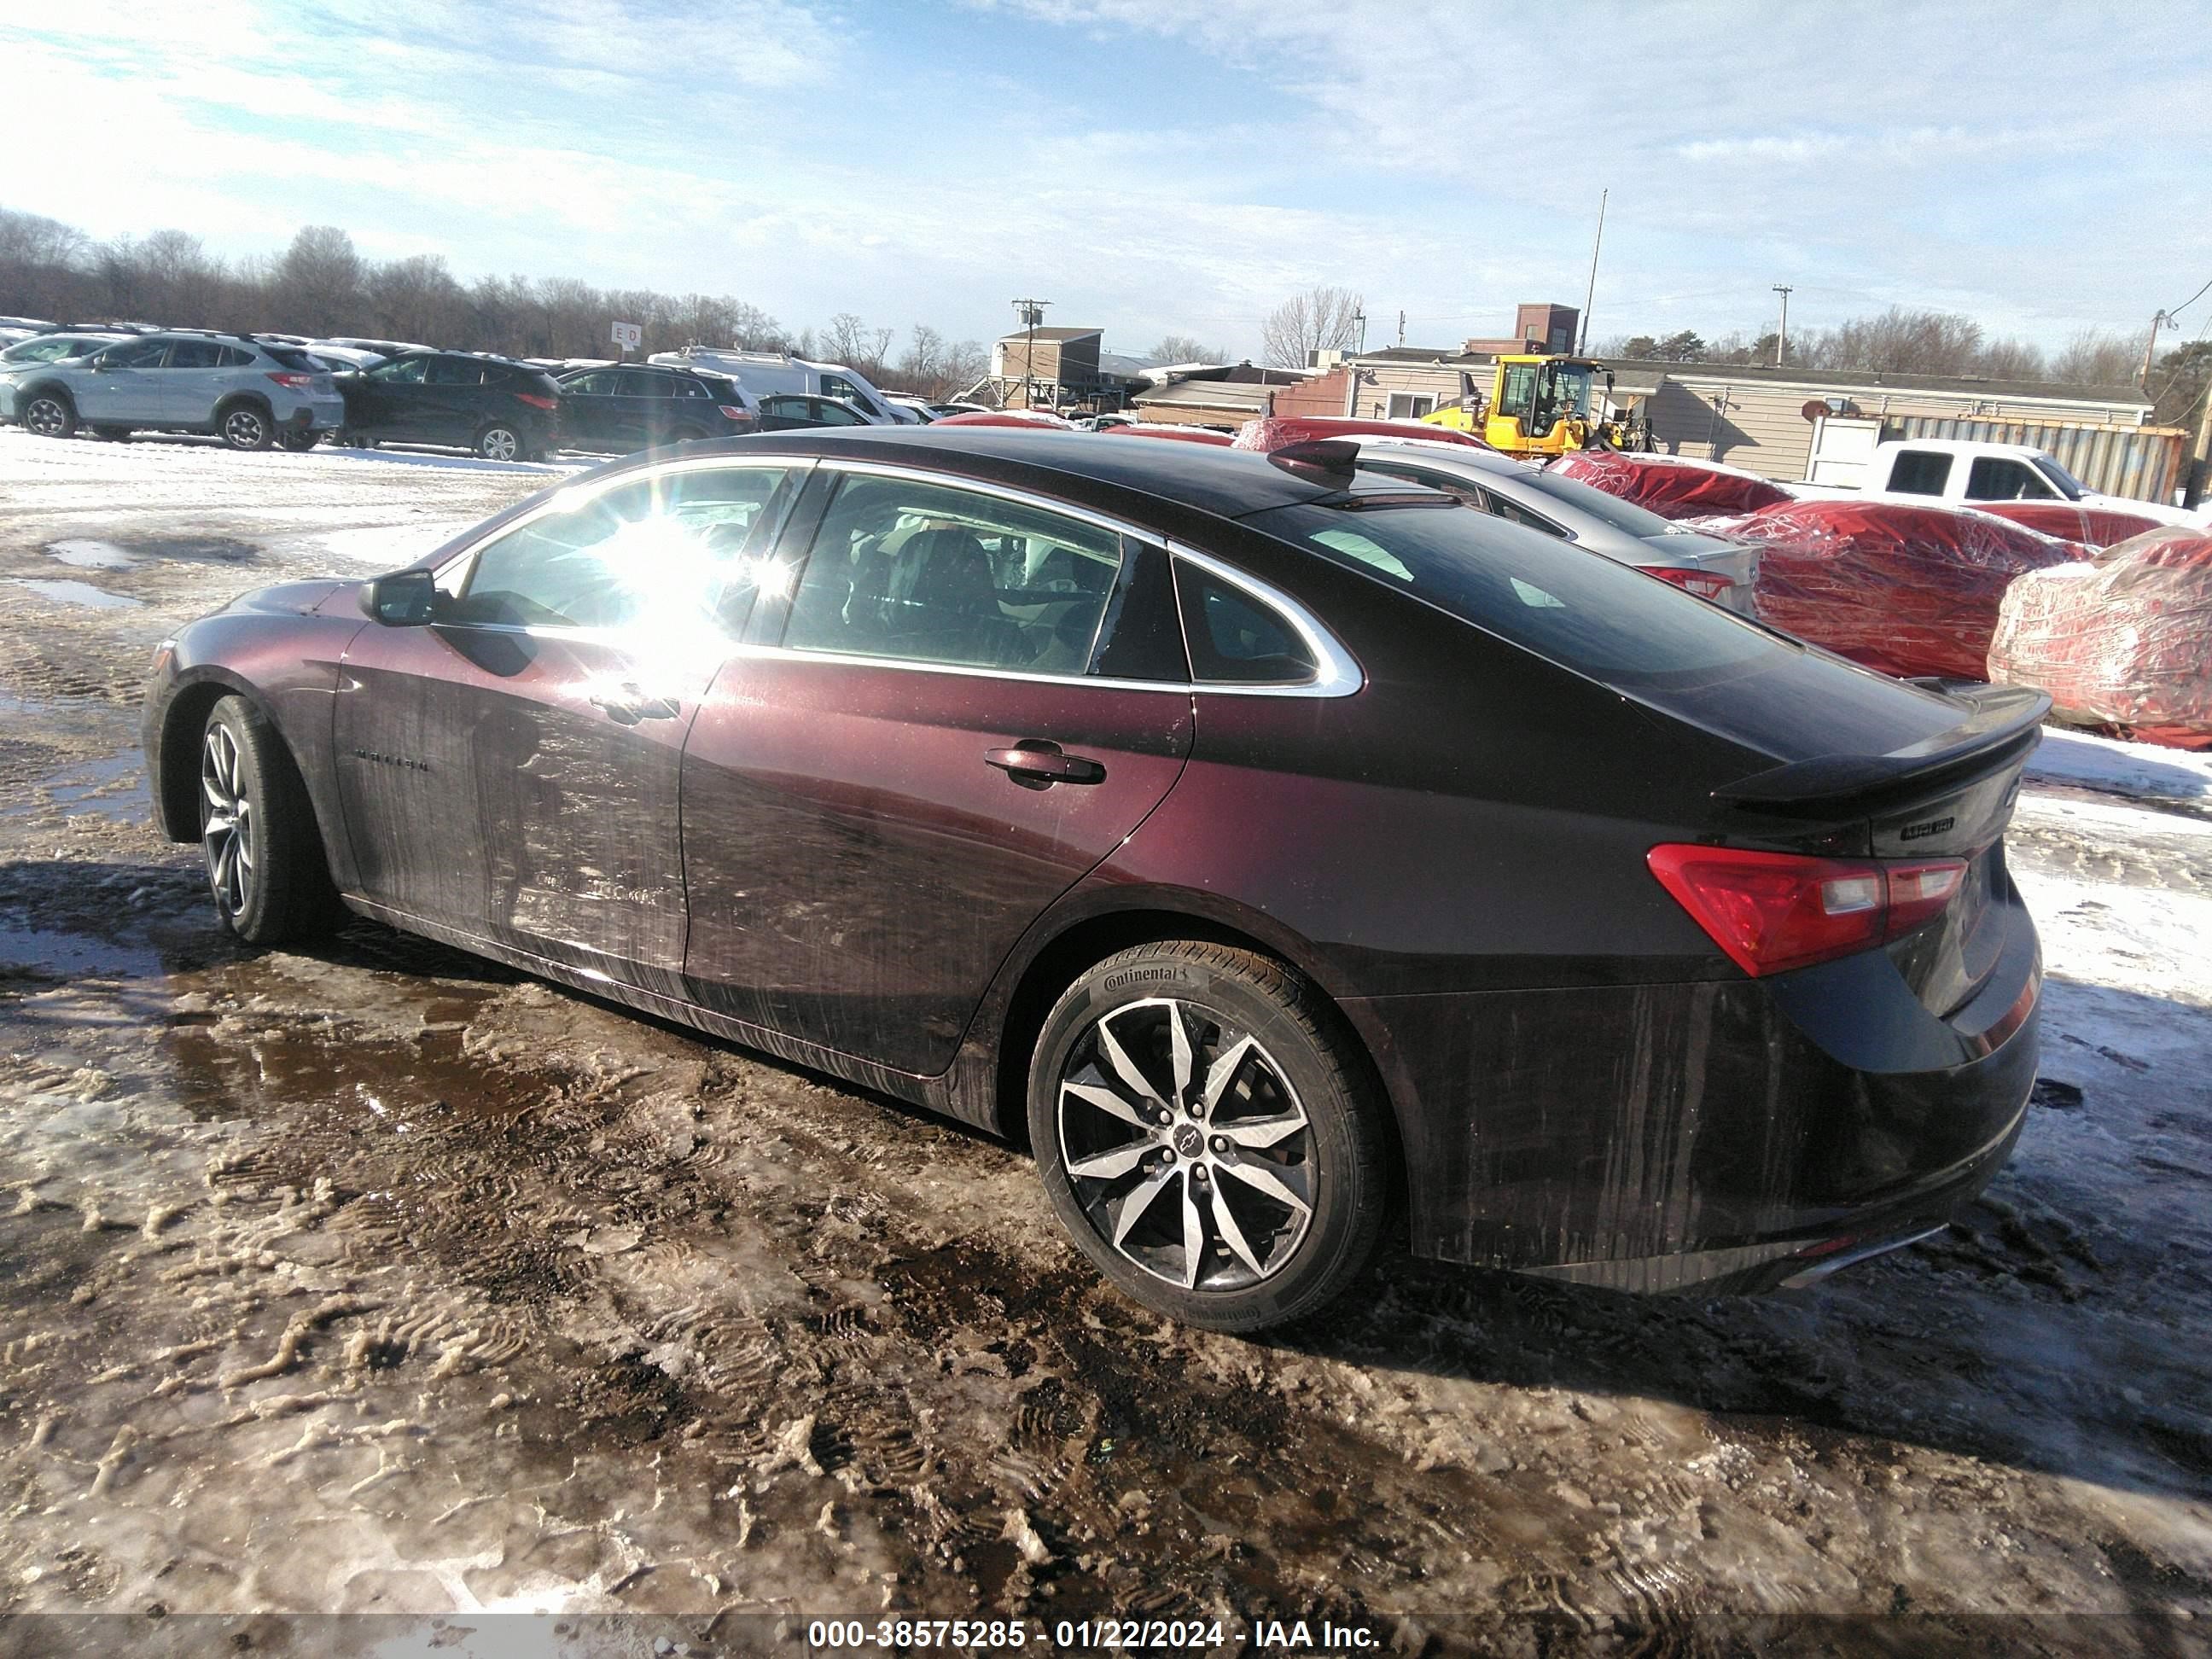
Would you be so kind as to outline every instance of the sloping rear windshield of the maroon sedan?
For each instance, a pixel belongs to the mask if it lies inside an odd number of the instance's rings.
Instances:
[[[1798,655],[1635,566],[1467,507],[1298,504],[1245,522],[1608,686],[1705,686]]]

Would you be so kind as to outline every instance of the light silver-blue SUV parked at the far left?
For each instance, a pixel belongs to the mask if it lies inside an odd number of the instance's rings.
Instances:
[[[0,369],[0,420],[40,438],[88,427],[206,431],[232,449],[307,449],[345,420],[330,369],[250,334],[142,334],[91,356]]]

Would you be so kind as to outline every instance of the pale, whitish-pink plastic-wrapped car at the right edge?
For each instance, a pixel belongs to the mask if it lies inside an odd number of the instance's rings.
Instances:
[[[1989,677],[2051,692],[2059,719],[2212,748],[2212,533],[2159,526],[2095,564],[2022,577]]]

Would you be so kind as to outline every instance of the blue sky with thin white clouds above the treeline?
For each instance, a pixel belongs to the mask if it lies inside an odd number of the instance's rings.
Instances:
[[[1911,303],[2055,347],[2212,276],[2208,35],[1955,0],[11,0],[0,206],[226,257],[338,223],[794,330],[989,338],[1035,294],[1119,349],[1256,352],[1312,283],[1369,345],[1579,303],[1610,188],[1599,338],[1759,332],[1792,283],[1792,327]]]

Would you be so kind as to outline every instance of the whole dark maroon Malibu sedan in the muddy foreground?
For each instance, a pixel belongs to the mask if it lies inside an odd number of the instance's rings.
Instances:
[[[1011,429],[653,451],[188,626],[221,918],[343,909],[1026,1130],[1128,1294],[1418,1254],[1803,1283],[2035,1077],[2044,701],[1898,684],[1383,473]]]

